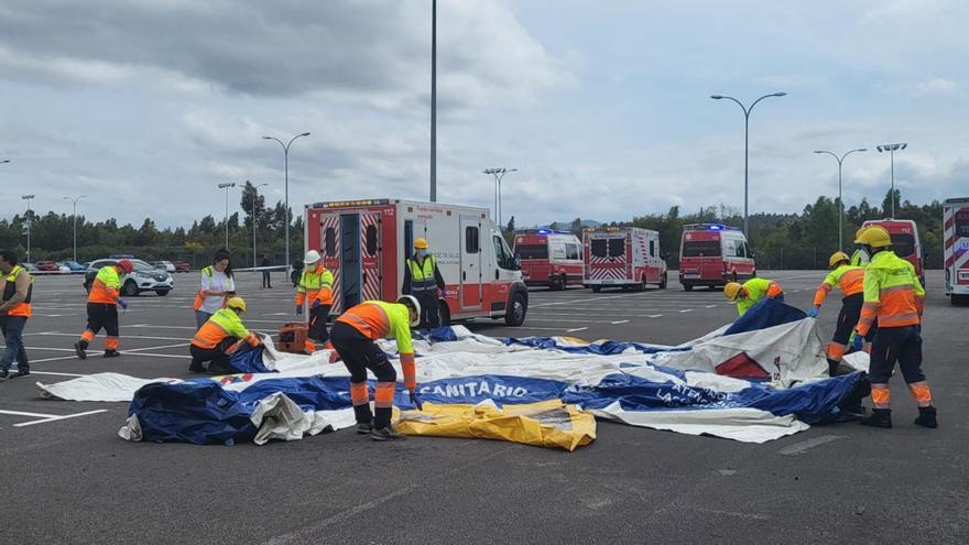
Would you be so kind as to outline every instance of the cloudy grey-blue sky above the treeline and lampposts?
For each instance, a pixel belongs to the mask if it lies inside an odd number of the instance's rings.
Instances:
[[[837,195],[969,194],[969,2],[439,0],[438,200],[518,224],[628,219]],[[428,196],[431,0],[32,0],[0,3],[3,217],[186,225],[219,182],[290,201]],[[238,209],[238,194],[232,196]],[[230,209],[230,212],[233,211]]]

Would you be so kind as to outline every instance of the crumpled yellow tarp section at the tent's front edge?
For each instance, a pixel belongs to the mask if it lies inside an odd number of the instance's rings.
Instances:
[[[545,401],[523,405],[435,405],[401,411],[394,427],[406,435],[510,440],[575,450],[596,439],[596,418],[575,405]]]

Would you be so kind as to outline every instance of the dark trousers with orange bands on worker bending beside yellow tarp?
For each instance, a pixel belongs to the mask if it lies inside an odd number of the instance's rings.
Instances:
[[[398,373],[375,342],[367,338],[349,324],[337,321],[334,324],[330,342],[347,370],[350,371],[350,399],[353,402],[353,413],[357,423],[369,424],[382,429],[390,425],[393,414],[393,395],[398,381]],[[367,370],[373,371],[377,377],[377,392],[373,401],[377,406],[377,417],[370,413],[370,392],[367,388]]]

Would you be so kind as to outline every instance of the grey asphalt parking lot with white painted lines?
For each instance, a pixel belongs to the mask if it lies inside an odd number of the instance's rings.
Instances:
[[[806,308],[823,272],[763,272]],[[41,400],[34,382],[112,371],[187,377],[195,273],[130,299],[123,356],[86,361],[80,279],[39,277],[25,341],[33,377],[0,384],[0,543],[966,543],[967,317],[928,274],[925,371],[936,430],[893,380],[895,428],[814,427],[763,445],[600,423],[574,453],[446,438],[374,444],[349,432],[266,446],[132,444],[127,404]],[[276,275],[240,274],[247,323],[293,320]],[[831,331],[838,299],[821,310]],[[719,291],[533,290],[525,325],[493,336],[569,335],[679,344],[730,320]]]

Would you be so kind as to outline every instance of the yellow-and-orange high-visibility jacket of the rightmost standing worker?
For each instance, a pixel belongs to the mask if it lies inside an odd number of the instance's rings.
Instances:
[[[925,288],[912,263],[883,250],[864,270],[864,305],[854,329],[858,335],[868,335],[875,318],[879,328],[918,325],[924,303]]]

